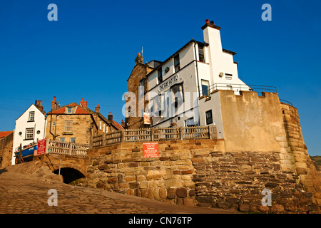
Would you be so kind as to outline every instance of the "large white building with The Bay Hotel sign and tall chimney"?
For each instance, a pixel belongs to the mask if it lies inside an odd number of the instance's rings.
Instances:
[[[192,39],[165,61],[149,63],[153,71],[146,76],[149,105],[145,112],[151,113],[151,127],[220,125],[219,100],[215,103],[211,93],[250,90],[238,78],[235,52],[222,48],[220,27],[206,20],[202,29],[204,42]],[[207,99],[212,100],[203,102]]]

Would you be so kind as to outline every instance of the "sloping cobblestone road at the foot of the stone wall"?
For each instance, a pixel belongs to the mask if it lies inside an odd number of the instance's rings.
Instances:
[[[49,206],[48,191],[58,193],[58,205]],[[18,172],[0,170],[0,213],[22,214],[230,214],[233,210],[185,207],[122,195],[98,189],[76,187]]]

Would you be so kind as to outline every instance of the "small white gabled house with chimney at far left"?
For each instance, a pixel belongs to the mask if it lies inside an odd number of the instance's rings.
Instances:
[[[19,148],[46,138],[46,115],[42,100],[32,104],[18,119],[14,129],[14,143],[11,164],[15,165],[14,152]]]

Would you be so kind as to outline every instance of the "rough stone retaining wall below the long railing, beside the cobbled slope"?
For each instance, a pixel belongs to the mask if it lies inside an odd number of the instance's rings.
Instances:
[[[234,208],[243,212],[316,213],[300,175],[282,170],[281,152],[225,152],[224,140],[159,142],[159,157],[143,158],[143,142],[88,150],[82,186],[148,197],[171,204]],[[262,206],[261,192],[272,192]]]

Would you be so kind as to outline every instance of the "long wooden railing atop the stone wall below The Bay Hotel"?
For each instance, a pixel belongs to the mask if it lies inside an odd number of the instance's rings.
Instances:
[[[118,130],[113,133],[91,136],[92,147],[117,142],[151,142],[161,140],[198,140],[217,138],[214,125],[179,128],[141,128]]]

